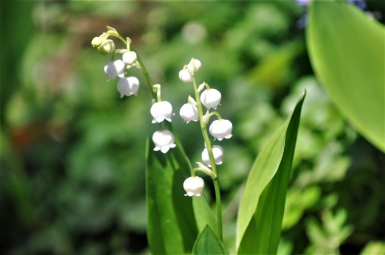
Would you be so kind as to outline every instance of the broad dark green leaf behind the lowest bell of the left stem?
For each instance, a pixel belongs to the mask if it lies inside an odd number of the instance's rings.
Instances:
[[[154,254],[190,252],[198,235],[193,201],[183,195],[190,164],[175,142],[176,147],[164,154],[154,151],[147,138],[147,238]]]

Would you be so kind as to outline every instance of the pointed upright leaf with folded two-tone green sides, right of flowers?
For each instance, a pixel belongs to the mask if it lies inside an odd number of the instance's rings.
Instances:
[[[238,213],[240,254],[277,252],[305,95],[306,91],[291,118],[271,137],[251,168]]]

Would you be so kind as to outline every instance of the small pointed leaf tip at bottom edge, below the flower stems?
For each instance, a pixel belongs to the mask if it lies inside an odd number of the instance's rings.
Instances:
[[[229,254],[229,252],[213,230],[206,225],[194,244],[193,254]]]

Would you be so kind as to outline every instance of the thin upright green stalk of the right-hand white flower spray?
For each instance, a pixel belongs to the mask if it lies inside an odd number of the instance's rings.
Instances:
[[[213,154],[213,147],[211,144],[211,140],[209,138],[209,134],[207,133],[207,129],[205,124],[203,123],[203,107],[201,103],[201,98],[199,96],[197,82],[195,80],[195,77],[193,76],[193,83],[194,83],[194,92],[195,92],[195,100],[197,101],[197,108],[198,108],[198,114],[199,114],[199,123],[202,130],[202,135],[205,140],[207,150],[209,152],[210,162],[211,162],[211,168],[214,172],[214,174],[217,176],[213,178],[214,182],[214,190],[215,190],[215,197],[216,197],[216,203],[217,203],[217,225],[218,225],[218,237],[222,241],[223,239],[223,232],[222,232],[222,202],[221,202],[221,192],[219,189],[219,179],[217,174],[217,165],[215,164],[214,154]]]

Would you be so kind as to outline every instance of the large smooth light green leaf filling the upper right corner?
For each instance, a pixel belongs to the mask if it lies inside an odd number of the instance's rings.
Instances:
[[[385,30],[345,1],[313,1],[306,29],[317,77],[350,123],[385,151]]]

